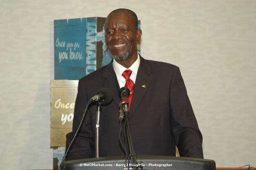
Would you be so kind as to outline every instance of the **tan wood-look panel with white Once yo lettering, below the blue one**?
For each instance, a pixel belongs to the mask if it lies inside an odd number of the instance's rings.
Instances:
[[[66,146],[71,132],[78,80],[51,80],[51,147]]]

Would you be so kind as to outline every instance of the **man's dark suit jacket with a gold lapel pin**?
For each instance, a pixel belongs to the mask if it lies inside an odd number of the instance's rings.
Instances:
[[[67,134],[67,146],[87,101],[103,87],[110,88],[114,98],[110,104],[102,105],[100,157],[124,155],[118,140],[120,87],[112,62],[79,80],[73,132]],[[176,145],[182,157],[203,158],[203,138],[177,66],[140,57],[129,124],[136,155],[175,156]],[[67,160],[95,157],[95,127],[96,104],[90,106]]]

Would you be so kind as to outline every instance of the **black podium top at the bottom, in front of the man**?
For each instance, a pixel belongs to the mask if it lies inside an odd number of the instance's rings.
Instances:
[[[216,170],[214,160],[160,155],[137,155],[143,170]],[[65,161],[61,170],[124,170],[125,157],[99,157]],[[138,168],[140,169],[140,168]]]

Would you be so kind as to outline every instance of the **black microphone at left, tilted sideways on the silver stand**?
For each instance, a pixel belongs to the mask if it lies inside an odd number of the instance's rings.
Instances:
[[[109,88],[101,88],[97,95],[91,97],[90,102],[102,101],[102,103],[109,103],[113,99],[113,93]]]

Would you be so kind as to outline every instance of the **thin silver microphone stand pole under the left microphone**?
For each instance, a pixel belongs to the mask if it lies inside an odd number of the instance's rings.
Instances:
[[[95,157],[99,157],[99,133],[100,133],[100,113],[101,113],[101,102],[97,102],[97,109],[96,109],[96,135],[95,135]]]

